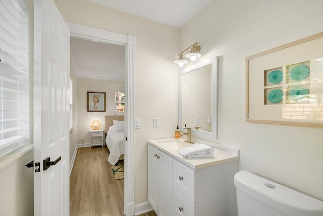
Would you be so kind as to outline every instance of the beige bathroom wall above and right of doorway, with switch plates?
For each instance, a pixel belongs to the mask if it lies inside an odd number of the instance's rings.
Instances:
[[[135,203],[145,202],[147,140],[173,137],[178,122],[178,67],[173,62],[179,51],[179,29],[82,0],[55,2],[68,22],[136,36],[134,109],[141,129],[135,130],[134,140]],[[84,94],[77,95],[79,101]],[[77,139],[88,139],[88,127],[80,128],[88,124],[79,122],[82,107],[86,105],[78,105],[77,132],[84,136]],[[159,118],[159,128],[153,128],[153,118]]]

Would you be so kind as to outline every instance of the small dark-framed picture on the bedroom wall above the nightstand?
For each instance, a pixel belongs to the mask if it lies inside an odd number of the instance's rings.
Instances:
[[[87,92],[87,112],[105,112],[105,92]]]

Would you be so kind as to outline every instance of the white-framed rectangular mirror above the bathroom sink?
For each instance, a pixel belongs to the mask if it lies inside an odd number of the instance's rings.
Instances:
[[[217,139],[218,57],[184,68],[179,79],[180,126],[192,128],[193,137],[207,141]]]

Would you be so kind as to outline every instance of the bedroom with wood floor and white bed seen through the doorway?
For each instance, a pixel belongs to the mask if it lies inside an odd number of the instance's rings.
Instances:
[[[124,215],[125,47],[71,37],[72,70],[77,95],[72,133],[78,149],[70,175],[70,215]],[[104,112],[84,109],[88,91],[105,93]],[[90,122],[96,119],[103,147],[88,141]]]

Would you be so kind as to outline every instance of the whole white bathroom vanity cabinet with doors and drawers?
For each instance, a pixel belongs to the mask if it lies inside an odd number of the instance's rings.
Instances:
[[[214,150],[213,158],[186,159],[148,141],[148,201],[158,216],[238,215],[233,181],[239,155]]]

